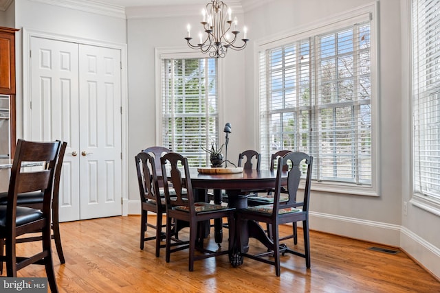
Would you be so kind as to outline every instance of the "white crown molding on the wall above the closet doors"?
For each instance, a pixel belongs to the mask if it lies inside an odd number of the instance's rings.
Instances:
[[[1,1],[1,0],[0,0]],[[74,9],[94,14],[112,16],[119,19],[126,19],[125,8],[119,5],[112,5],[104,1],[86,1],[86,0],[30,0],[55,5],[63,8]]]

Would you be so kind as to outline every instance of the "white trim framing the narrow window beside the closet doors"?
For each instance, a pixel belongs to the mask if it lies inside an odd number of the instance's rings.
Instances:
[[[162,145],[162,59],[207,58],[200,51],[190,51],[188,47],[155,47],[155,124],[156,145]],[[219,133],[223,131],[223,62],[217,62],[217,86],[219,95]]]

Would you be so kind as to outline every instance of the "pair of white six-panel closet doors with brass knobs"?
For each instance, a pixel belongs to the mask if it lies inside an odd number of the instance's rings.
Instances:
[[[30,47],[30,139],[68,143],[60,220],[121,215],[121,51],[39,37]]]

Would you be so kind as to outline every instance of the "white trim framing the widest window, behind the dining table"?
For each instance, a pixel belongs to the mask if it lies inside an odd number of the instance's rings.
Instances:
[[[371,137],[373,139],[371,145],[371,161],[372,161],[372,174],[371,174],[371,187],[362,185],[353,185],[347,183],[332,183],[332,182],[318,182],[314,180],[314,184],[311,189],[314,191],[329,192],[331,194],[351,194],[360,196],[380,196],[380,113],[379,113],[379,66],[378,66],[378,5],[377,2],[360,6],[347,12],[342,12],[331,16],[327,19],[317,21],[316,23],[309,23],[307,25],[301,25],[294,27],[291,30],[281,32],[276,35],[267,36],[255,41],[254,46],[254,93],[256,97],[259,97],[259,56],[261,52],[274,47],[281,47],[290,43],[294,43],[298,40],[310,36],[316,36],[333,30],[353,25],[362,21],[371,21]],[[256,102],[258,106],[254,109],[254,117],[256,119],[254,125],[256,145],[261,148],[260,139],[260,102]]]

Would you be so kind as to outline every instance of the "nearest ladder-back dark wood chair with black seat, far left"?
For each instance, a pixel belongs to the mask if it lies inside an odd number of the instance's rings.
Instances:
[[[5,240],[5,255],[8,277],[17,277],[17,270],[30,264],[44,264],[51,292],[58,292],[52,261],[51,215],[52,189],[56,160],[61,142],[32,142],[19,139],[12,163],[8,204],[0,206],[0,238]],[[22,162],[47,162],[47,167],[39,171],[27,171]],[[33,191],[43,191],[43,207],[32,209],[17,206],[17,196]],[[42,233],[41,251],[34,255],[16,255],[17,237],[29,233]]]

